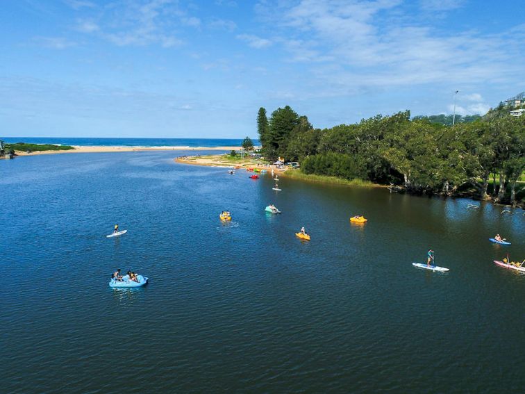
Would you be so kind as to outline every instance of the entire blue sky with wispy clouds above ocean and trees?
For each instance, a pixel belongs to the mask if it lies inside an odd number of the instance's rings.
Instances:
[[[4,0],[3,136],[256,137],[485,113],[525,90],[522,0]]]

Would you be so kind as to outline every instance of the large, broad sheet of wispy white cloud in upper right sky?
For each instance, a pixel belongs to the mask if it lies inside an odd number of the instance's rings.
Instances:
[[[271,26],[272,42],[289,52],[284,60],[310,67],[317,95],[349,95],[364,86],[501,83],[522,70],[519,49],[507,44],[517,33],[422,26],[399,0],[261,1],[256,10]]]

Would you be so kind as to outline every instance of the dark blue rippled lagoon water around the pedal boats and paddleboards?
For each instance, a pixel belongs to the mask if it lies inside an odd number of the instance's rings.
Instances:
[[[525,258],[522,211],[284,177],[274,192],[173,156],[0,161],[1,391],[525,391],[525,275],[492,263]],[[106,239],[115,223],[128,233]],[[412,266],[428,247],[450,272]],[[115,268],[150,283],[112,290]]]

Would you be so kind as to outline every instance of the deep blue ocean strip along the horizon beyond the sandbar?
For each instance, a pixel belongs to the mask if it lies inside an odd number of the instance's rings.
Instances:
[[[5,142],[31,144],[79,145],[85,147],[238,147],[243,138],[65,138],[65,137],[1,137]],[[260,145],[253,139],[254,145]]]

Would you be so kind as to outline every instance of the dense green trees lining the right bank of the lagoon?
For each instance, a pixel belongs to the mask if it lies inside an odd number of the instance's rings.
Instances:
[[[519,192],[518,181],[525,170],[525,116],[497,111],[454,127],[424,117],[410,120],[410,112],[404,111],[313,129],[306,116],[286,106],[272,113],[261,142],[267,158],[300,161],[308,174],[523,204],[525,190]]]

